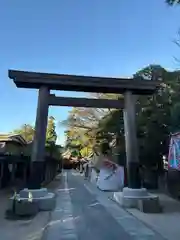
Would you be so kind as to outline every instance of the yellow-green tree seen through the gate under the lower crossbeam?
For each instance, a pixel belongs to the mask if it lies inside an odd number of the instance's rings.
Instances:
[[[93,98],[117,98],[115,94],[91,94]],[[66,148],[79,147],[81,155],[84,157],[92,152],[96,141],[100,141],[102,136],[97,140],[97,133],[101,132],[100,122],[105,116],[112,114],[111,109],[98,108],[73,108],[67,120],[61,122],[67,127],[66,131]],[[102,135],[102,134],[101,134]],[[98,137],[100,134],[98,135]],[[103,135],[104,137],[105,135]]]

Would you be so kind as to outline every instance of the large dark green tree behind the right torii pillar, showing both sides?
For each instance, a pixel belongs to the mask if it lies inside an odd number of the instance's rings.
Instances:
[[[143,165],[162,166],[162,156],[168,153],[169,134],[179,119],[179,71],[168,72],[159,65],[149,65],[138,71],[134,77],[145,78],[146,81],[159,79],[161,88],[152,96],[140,96],[137,99],[137,136],[140,161]],[[178,105],[177,105],[178,104]],[[171,116],[174,116],[172,118]],[[121,110],[114,111],[111,116],[101,120],[101,131],[118,133],[119,144],[124,153],[124,123]]]

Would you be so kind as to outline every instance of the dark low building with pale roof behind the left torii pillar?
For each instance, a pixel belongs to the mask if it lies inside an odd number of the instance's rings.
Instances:
[[[0,134],[0,189],[7,186],[27,186],[33,142],[20,134]],[[49,183],[61,171],[61,146],[46,147],[42,183]]]

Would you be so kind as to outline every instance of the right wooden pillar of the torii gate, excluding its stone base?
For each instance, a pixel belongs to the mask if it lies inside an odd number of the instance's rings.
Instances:
[[[125,92],[124,102],[124,130],[128,188],[139,189],[141,188],[141,179],[136,136],[135,96],[130,91]]]

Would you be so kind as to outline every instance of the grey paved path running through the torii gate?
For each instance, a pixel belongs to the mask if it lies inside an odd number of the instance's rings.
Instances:
[[[163,240],[108,195],[77,172],[64,172],[43,240]]]

